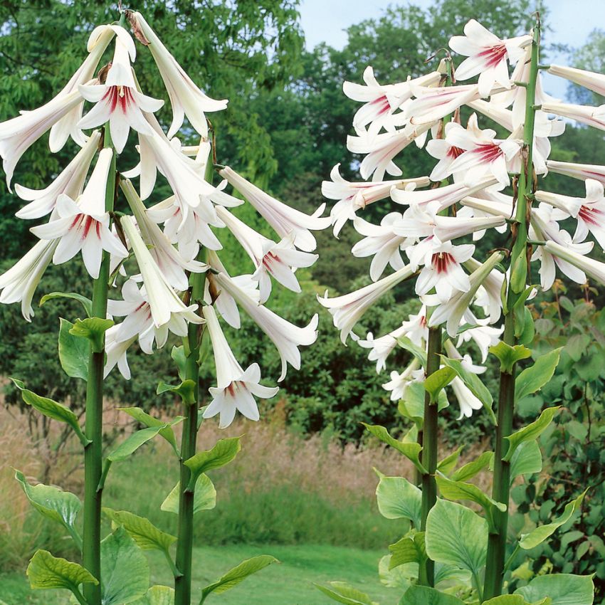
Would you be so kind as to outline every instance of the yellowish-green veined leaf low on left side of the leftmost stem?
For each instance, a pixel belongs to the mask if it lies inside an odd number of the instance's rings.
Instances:
[[[48,550],[36,551],[31,557],[26,574],[33,589],[64,588],[73,594],[80,594],[80,584],[99,583],[88,569],[78,563],[53,557]]]

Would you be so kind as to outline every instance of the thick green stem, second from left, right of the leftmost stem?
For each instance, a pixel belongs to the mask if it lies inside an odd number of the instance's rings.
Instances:
[[[200,301],[204,295],[204,273],[191,275],[191,301]],[[177,558],[174,574],[174,605],[191,604],[191,556],[194,530],[194,490],[188,490],[191,473],[184,461],[196,453],[199,401],[199,325],[189,324],[185,342],[185,379],[195,383],[192,401],[183,401],[183,436],[181,439],[181,478],[179,493],[179,527]]]

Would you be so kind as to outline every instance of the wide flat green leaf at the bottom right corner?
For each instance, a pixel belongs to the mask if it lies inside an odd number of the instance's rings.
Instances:
[[[594,584],[591,576],[549,574],[538,576],[515,590],[526,601],[535,603],[549,597],[552,605],[592,605]]]

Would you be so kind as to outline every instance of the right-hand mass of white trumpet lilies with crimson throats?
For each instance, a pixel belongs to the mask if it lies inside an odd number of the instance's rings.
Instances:
[[[466,57],[453,77],[446,77],[448,67],[442,62],[433,73],[405,82],[381,85],[368,67],[365,85],[344,83],[345,95],[364,103],[354,116],[356,135],[348,137],[347,148],[364,154],[359,171],[364,179],[372,180],[346,181],[337,165],[332,180],[324,181],[322,192],[328,199],[337,200],[331,211],[335,236],[347,221],[352,221],[354,229],[364,236],[352,253],[373,256],[373,283],[337,298],[320,298],[320,302],[332,313],[343,342],[364,312],[404,280],[417,275],[416,294],[423,303],[421,312],[394,332],[376,339],[369,334],[367,340],[359,340],[362,347],[371,349],[369,359],[377,361],[378,372],[384,369],[386,357],[398,339],[406,337],[424,346],[428,327],[443,323],[451,339],[458,337],[457,346],[470,340],[478,344],[482,362],[490,344],[498,341],[502,328],[493,324],[501,316],[501,293],[507,278],[498,269],[502,255],[496,252],[480,262],[473,258],[475,244],[460,241],[478,241],[490,228],[503,232],[507,220],[514,217],[515,199],[504,190],[510,185],[510,174],[520,174],[524,169],[524,84],[530,78],[531,42],[530,35],[501,40],[471,20],[464,36],[454,36],[449,42],[453,51]],[[605,94],[605,75],[557,65],[551,65],[549,73]],[[477,75],[476,84],[456,84],[456,80]],[[447,80],[451,85],[445,85]],[[601,247],[605,246],[605,167],[548,159],[549,138],[564,132],[561,117],[605,130],[605,106],[562,104],[544,93],[540,74],[535,102],[541,106],[535,112],[535,173],[545,175],[550,170],[586,181],[586,199],[547,191],[535,194],[539,205],[531,209],[529,236],[542,244],[536,246],[532,256],[540,261],[541,286],[544,290],[552,286],[556,266],[578,283],[584,283],[586,275],[605,281],[605,265],[584,256],[593,246],[585,241],[589,232]],[[460,118],[463,106],[470,108],[467,112],[472,111],[466,127]],[[498,138],[495,130],[482,130],[478,114],[510,134]],[[429,132],[431,139],[427,142]],[[431,174],[383,180],[385,172],[401,177],[402,171],[393,160],[412,142],[438,160]],[[426,186],[428,189],[418,190]],[[369,204],[386,198],[404,206],[403,211],[385,214],[379,225],[357,216]],[[570,217],[577,220],[573,236],[559,226],[559,221]],[[381,278],[386,265],[394,271]],[[446,342],[446,352],[461,359],[453,340]],[[463,363],[471,372],[484,371],[470,358]],[[411,380],[423,378],[423,371],[415,364],[400,374],[391,373],[391,381],[384,388],[392,391],[392,399],[401,398]],[[480,407],[461,382],[454,381],[452,386],[461,404],[461,416],[470,416],[472,409]]]

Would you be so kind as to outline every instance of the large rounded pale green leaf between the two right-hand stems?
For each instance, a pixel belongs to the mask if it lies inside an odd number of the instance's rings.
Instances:
[[[485,565],[488,522],[470,508],[439,498],[428,513],[425,542],[433,561],[478,575]]]

